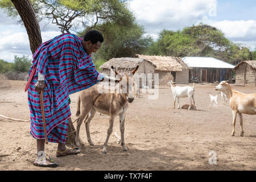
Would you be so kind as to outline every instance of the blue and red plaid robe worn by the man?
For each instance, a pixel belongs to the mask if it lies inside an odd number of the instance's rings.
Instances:
[[[30,133],[36,139],[44,139],[40,98],[35,90],[40,72],[46,84],[43,97],[48,140],[65,143],[71,116],[69,94],[97,84],[104,75],[96,71],[91,56],[82,47],[82,38],[73,34],[62,34],[43,43],[33,55],[29,75],[33,67],[36,72],[28,88]]]

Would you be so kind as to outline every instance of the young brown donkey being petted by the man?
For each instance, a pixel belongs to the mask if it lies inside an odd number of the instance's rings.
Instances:
[[[82,121],[85,122],[85,129],[87,140],[91,146],[93,146],[92,139],[90,138],[90,121],[96,114],[100,112],[102,114],[109,115],[109,128],[107,132],[106,141],[102,153],[106,154],[106,147],[108,146],[108,140],[113,131],[114,119],[119,115],[120,121],[120,131],[121,131],[121,145],[124,151],[127,151],[125,146],[125,116],[128,108],[128,103],[133,102],[134,100],[134,73],[138,70],[137,66],[130,74],[123,73],[120,78],[120,81],[117,84],[118,92],[115,93],[100,93],[97,90],[97,85],[92,86],[89,89],[83,90],[79,94],[79,99],[77,102],[77,113],[79,116],[77,119],[76,127],[76,138],[75,142],[77,146],[80,146],[79,139],[79,130]],[[113,66],[112,66],[112,69]],[[115,71],[116,76],[120,76],[117,71]],[[130,82],[131,84],[130,84]],[[81,108],[80,108],[81,107]]]

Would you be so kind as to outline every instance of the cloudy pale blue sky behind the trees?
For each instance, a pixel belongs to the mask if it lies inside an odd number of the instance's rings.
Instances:
[[[256,47],[255,0],[130,0],[128,3],[138,24],[154,39],[164,29],[177,31],[204,23],[251,51]],[[48,22],[41,22],[40,29],[43,42],[61,34],[55,24]],[[15,55],[32,58],[27,32],[0,9],[0,59],[13,62]]]

